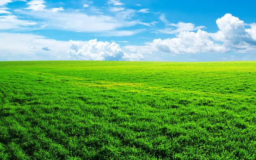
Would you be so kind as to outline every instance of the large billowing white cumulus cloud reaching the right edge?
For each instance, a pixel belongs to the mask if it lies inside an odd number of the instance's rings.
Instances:
[[[154,39],[144,46],[126,46],[125,49],[131,53],[148,54],[256,52],[256,24],[246,24],[231,14],[225,14],[216,21],[219,28],[216,33],[202,31],[200,28],[204,26],[195,27],[192,23],[171,24],[164,14],[160,16],[160,20],[166,25],[177,27],[168,30],[170,34],[176,33],[175,38]],[[194,30],[198,31],[192,32]]]

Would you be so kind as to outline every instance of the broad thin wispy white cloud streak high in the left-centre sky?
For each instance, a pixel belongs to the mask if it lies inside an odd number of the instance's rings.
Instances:
[[[127,21],[124,17],[131,15],[128,13],[119,13],[120,17],[111,17],[105,15],[87,15],[79,12],[28,12],[22,11],[21,14],[34,17],[51,24],[52,28],[66,31],[81,31],[90,33],[101,33],[104,31],[113,31],[123,27],[137,25],[137,21]],[[67,25],[72,23],[73,25]]]

